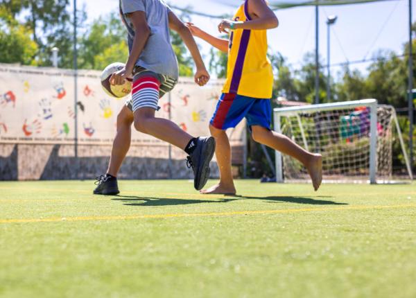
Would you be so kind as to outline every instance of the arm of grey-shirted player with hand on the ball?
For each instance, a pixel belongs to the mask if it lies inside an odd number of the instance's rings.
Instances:
[[[150,36],[150,28],[147,24],[146,13],[143,11],[135,11],[129,14],[133,26],[135,26],[135,40],[133,41],[132,51],[125,63],[125,68],[116,71],[110,78],[112,85],[123,85],[126,78],[132,76],[135,64],[140,57],[141,52],[146,46],[148,37]]]

